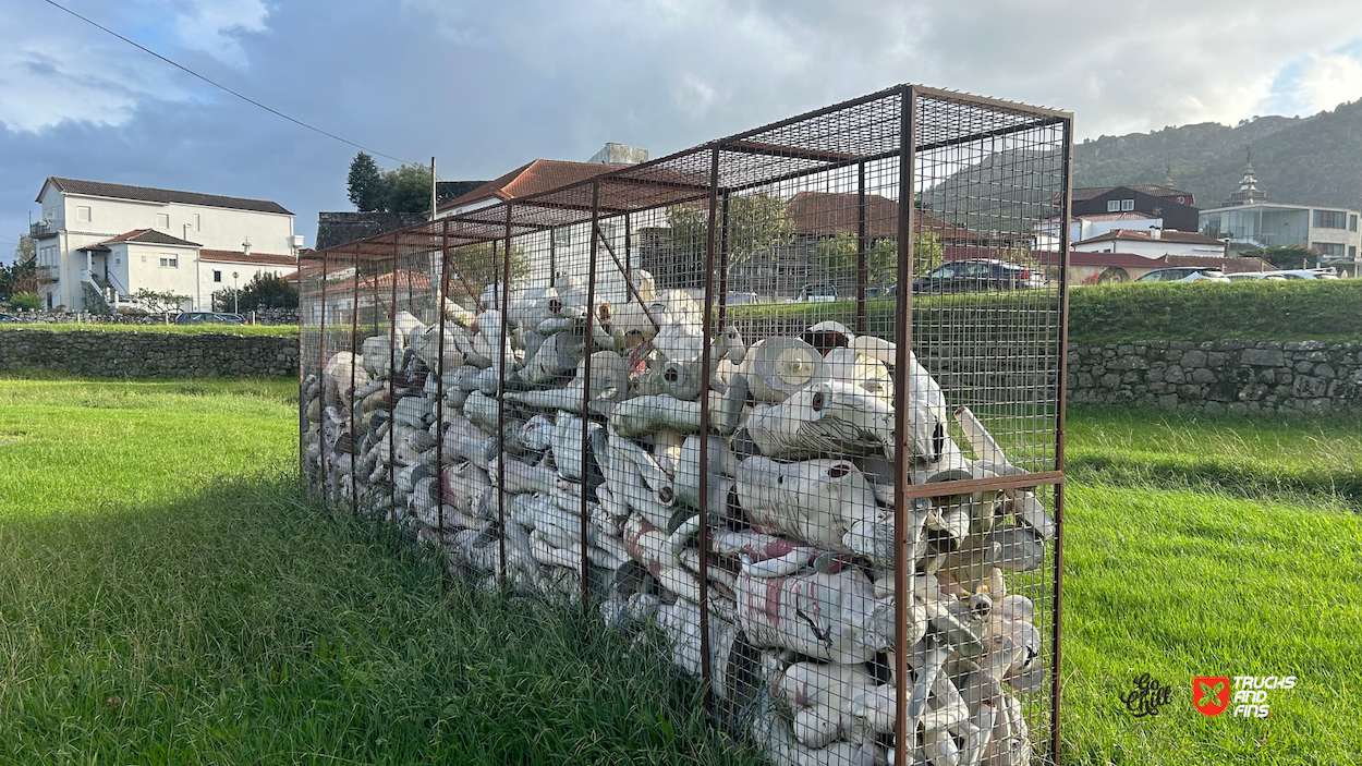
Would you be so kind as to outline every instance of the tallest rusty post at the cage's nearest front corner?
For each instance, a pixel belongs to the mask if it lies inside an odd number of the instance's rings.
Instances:
[[[898,279],[893,322],[893,752],[895,763],[908,762],[908,487],[907,418],[908,354],[913,342],[913,181],[917,149],[918,93],[914,86],[899,97],[899,226]]]

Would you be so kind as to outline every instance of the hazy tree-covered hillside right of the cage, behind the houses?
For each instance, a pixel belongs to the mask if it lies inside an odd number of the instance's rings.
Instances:
[[[1362,210],[1362,101],[1306,119],[1102,136],[1073,147],[1073,185],[1162,184],[1171,165],[1174,187],[1196,195],[1203,210],[1218,207],[1238,187],[1250,143],[1269,202]]]

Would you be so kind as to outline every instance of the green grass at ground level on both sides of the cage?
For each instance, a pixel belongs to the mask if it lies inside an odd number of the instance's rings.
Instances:
[[[573,611],[301,502],[294,395],[0,380],[0,762],[755,762]],[[1362,762],[1358,424],[1069,428],[1066,762]],[[1145,672],[1173,699],[1133,718]],[[1194,675],[1299,683],[1204,718]]]

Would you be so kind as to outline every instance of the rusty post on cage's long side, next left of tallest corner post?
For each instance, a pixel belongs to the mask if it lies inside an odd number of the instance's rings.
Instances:
[[[714,334],[714,225],[719,207],[719,147],[710,155],[710,224],[706,226],[704,245],[704,316],[700,327],[700,680],[704,684],[704,702],[714,710],[714,686],[710,668],[710,343]]]

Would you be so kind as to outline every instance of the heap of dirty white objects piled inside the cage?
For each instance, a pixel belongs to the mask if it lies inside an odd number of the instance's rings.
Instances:
[[[646,271],[635,281],[642,300],[594,307],[590,382],[587,290],[572,278],[516,292],[504,346],[500,311],[447,301],[443,401],[439,327],[400,312],[391,354],[388,335],[372,337],[361,356],[331,356],[320,384],[305,380],[311,472],[324,457],[330,497],[349,504],[353,482],[361,507],[440,545],[486,587],[504,555],[511,587],[576,600],[584,555],[602,616],[655,626],[693,673],[706,556],[712,688],[741,706],[771,759],[892,763],[893,345],[824,322],[748,348],[729,327],[706,383],[701,307],[654,290]],[[902,372],[914,484],[1020,473],[968,409],[948,410],[915,360]],[[951,438],[952,417],[974,458]],[[910,519],[910,762],[1028,763],[1019,692],[1043,686],[1042,639],[1005,575],[1039,570],[1053,521],[1027,491],[913,499]]]

